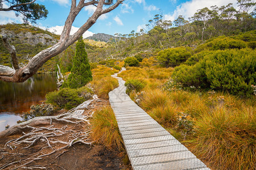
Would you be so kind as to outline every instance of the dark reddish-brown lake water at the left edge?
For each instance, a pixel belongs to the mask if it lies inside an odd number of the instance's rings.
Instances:
[[[22,120],[22,112],[29,111],[32,104],[41,104],[47,92],[56,89],[56,74],[35,74],[23,83],[0,80],[0,131]]]

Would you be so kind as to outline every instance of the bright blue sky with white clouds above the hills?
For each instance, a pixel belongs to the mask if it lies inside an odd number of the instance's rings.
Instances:
[[[49,31],[55,31],[60,34],[65,19],[68,16],[71,0],[37,0],[46,6],[49,11],[48,18],[38,20],[38,27]],[[122,5],[115,10],[101,16],[97,22],[84,34],[84,37],[93,33],[130,33],[132,30],[139,32],[141,28],[146,28],[148,20],[154,18],[155,14],[159,14],[159,10],[163,11],[164,19],[172,20],[178,15],[185,18],[191,17],[196,10],[213,5],[222,6],[233,3],[236,7],[236,0],[125,0]],[[6,4],[7,5],[7,4]],[[95,7],[88,6],[84,8],[73,23],[72,32],[75,32],[82,24],[86,22]],[[0,11],[0,24],[10,22],[22,23],[21,18],[17,18],[14,12]]]

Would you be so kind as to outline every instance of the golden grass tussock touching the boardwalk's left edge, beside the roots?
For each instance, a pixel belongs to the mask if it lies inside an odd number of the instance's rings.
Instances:
[[[111,107],[97,110],[90,121],[91,138],[107,148],[123,148],[123,141],[118,130],[117,120]]]

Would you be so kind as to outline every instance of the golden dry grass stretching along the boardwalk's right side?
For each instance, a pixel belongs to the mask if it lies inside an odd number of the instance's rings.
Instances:
[[[142,108],[185,142],[196,156],[206,160],[210,168],[255,169],[256,96],[240,99],[224,92],[162,91],[161,85],[171,73],[172,69],[156,66],[130,67],[120,76],[146,82]],[[136,94],[130,95],[134,98]],[[193,121],[187,141],[184,133],[177,129],[180,113]]]

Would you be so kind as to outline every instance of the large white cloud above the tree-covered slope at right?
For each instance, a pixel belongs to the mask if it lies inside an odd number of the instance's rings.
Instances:
[[[176,7],[176,10],[173,14],[164,15],[165,20],[174,20],[179,15],[183,15],[185,18],[189,18],[195,14],[195,12],[201,8],[217,5],[218,7],[223,5],[228,5],[229,3],[233,3],[234,7],[236,7],[236,0],[192,0],[188,2],[181,3]]]

